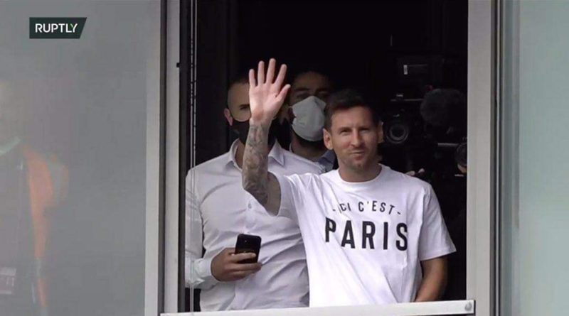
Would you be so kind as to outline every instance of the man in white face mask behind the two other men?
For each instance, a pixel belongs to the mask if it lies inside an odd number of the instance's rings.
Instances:
[[[319,72],[301,72],[294,77],[289,94],[289,150],[318,163],[328,172],[336,166],[336,155],[324,146],[324,108],[331,92],[328,77]]]

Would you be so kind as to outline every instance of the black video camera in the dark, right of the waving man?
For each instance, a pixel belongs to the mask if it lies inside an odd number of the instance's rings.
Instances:
[[[466,100],[456,89],[432,89],[421,99],[390,99],[383,110],[380,153],[395,170],[459,175],[467,167]]]

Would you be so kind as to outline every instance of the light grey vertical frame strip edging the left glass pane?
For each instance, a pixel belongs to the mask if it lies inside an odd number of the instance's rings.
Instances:
[[[154,46],[147,53],[146,209],[144,231],[144,316],[164,311],[164,138],[166,122],[166,0],[144,16],[153,21],[147,36]],[[156,40],[154,40],[156,38]]]

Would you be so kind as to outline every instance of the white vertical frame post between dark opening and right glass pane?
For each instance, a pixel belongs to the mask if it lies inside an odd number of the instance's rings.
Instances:
[[[498,1],[469,0],[467,298],[496,315],[496,32]]]

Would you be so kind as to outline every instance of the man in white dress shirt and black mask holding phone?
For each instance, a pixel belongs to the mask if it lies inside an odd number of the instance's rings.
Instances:
[[[224,114],[238,140],[186,177],[186,286],[201,289],[202,311],[307,306],[307,263],[297,224],[267,214],[241,184],[250,119],[247,77],[230,85]],[[278,130],[273,119],[269,170],[319,173],[317,164],[281,148]],[[238,234],[261,236],[258,263],[239,263],[255,255],[233,254]]]

